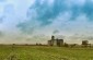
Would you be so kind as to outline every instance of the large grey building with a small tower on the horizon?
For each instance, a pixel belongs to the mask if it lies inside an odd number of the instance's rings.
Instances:
[[[63,46],[63,39],[58,39],[58,38],[55,39],[55,36],[51,36],[51,39],[48,40],[48,45],[61,47],[61,46]]]

